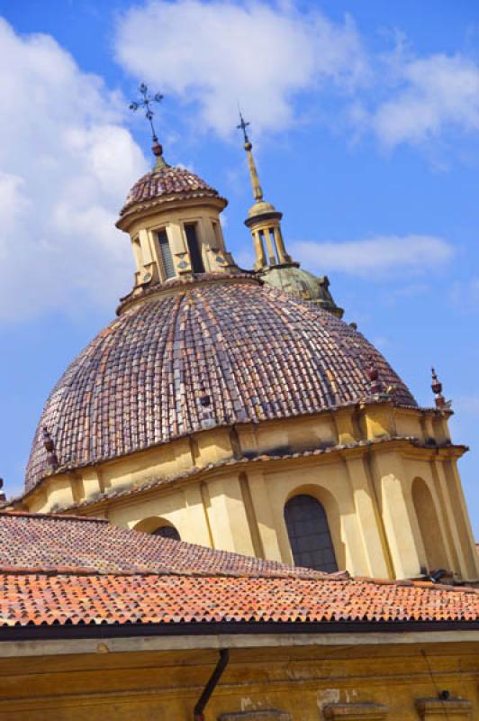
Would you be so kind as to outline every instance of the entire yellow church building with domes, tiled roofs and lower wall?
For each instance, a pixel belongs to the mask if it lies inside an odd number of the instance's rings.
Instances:
[[[117,222],[131,292],[0,507],[0,721],[479,717],[450,404],[294,260],[240,127],[254,268],[154,138]]]

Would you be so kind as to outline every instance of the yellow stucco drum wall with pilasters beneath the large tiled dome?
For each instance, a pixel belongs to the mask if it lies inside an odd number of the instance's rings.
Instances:
[[[212,428],[50,476],[23,507],[175,525],[184,541],[292,563],[285,503],[307,494],[326,512],[340,569],[401,579],[443,568],[475,582],[464,449],[447,439],[444,416],[389,402]]]

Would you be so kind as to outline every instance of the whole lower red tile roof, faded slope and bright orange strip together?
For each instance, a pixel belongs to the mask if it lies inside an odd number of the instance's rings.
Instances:
[[[327,576],[94,519],[2,512],[0,541],[3,627],[479,618],[474,589]]]

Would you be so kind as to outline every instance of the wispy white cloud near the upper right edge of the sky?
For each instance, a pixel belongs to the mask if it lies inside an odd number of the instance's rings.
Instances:
[[[400,57],[393,68],[399,86],[370,117],[384,145],[430,141],[451,128],[479,130],[479,67],[473,60],[442,54]]]

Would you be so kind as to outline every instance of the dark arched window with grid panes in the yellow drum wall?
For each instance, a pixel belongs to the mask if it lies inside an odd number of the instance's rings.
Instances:
[[[316,498],[291,498],[285,505],[285,522],[296,566],[327,573],[338,570],[328,519]]]

